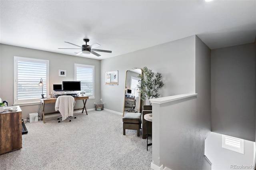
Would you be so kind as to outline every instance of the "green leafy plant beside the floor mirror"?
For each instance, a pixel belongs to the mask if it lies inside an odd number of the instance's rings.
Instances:
[[[158,90],[164,86],[161,73],[153,73],[151,69],[147,67],[143,68],[144,75],[139,75],[139,84],[137,87],[141,93],[141,99],[157,98],[160,94]],[[151,104],[151,103],[150,103]]]

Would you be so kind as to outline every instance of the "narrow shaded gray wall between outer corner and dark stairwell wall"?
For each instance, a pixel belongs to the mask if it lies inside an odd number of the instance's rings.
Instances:
[[[203,170],[210,170],[211,166],[204,156],[204,143],[211,130],[211,50],[196,37],[196,119],[195,133],[199,135],[194,140],[198,141],[199,167]],[[198,130],[200,128],[200,130]],[[203,148],[201,148],[201,146]],[[193,146],[192,146],[193,147]],[[196,158],[195,158],[196,159]],[[201,165],[201,166],[200,166]],[[197,169],[197,168],[196,168]],[[198,168],[199,169],[199,168]]]

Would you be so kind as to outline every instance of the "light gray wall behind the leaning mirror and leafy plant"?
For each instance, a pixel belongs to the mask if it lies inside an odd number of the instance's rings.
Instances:
[[[125,74],[148,67],[162,74],[160,97],[195,91],[195,36],[101,60],[101,95],[104,108],[123,113]],[[192,64],[191,64],[192,63]],[[118,85],[104,84],[105,72],[118,70]]]

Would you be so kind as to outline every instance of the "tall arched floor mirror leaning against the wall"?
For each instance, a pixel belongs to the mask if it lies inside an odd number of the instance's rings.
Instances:
[[[124,89],[124,113],[140,113],[140,85],[138,75],[142,74],[142,69],[130,69],[126,71],[125,89]]]

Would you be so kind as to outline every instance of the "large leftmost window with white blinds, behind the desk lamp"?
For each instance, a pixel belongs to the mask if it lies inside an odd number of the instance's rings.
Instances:
[[[38,86],[41,78],[44,85]],[[14,56],[14,104],[38,103],[48,84],[49,60]]]

